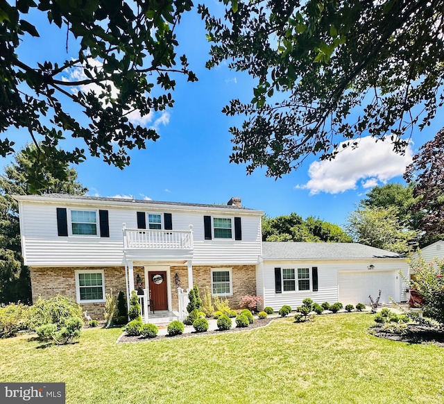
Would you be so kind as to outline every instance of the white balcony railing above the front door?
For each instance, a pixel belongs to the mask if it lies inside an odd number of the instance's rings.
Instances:
[[[191,230],[145,230],[123,227],[125,249],[193,249]]]

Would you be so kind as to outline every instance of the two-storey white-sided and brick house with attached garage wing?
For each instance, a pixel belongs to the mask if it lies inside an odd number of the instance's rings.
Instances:
[[[67,194],[15,196],[33,301],[63,294],[103,317],[106,294],[137,290],[151,312],[185,315],[186,289],[257,294],[278,310],[302,299],[407,300],[401,255],[360,244],[262,242],[262,210]]]

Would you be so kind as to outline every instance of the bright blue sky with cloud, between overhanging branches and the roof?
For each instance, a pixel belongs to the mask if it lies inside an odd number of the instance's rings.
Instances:
[[[67,58],[65,40],[65,34],[50,29],[42,39],[24,42],[19,55],[31,64],[46,56],[61,61]],[[99,158],[76,166],[90,195],[191,203],[226,203],[239,196],[244,206],[264,210],[271,217],[296,212],[342,225],[372,186],[404,183],[402,174],[411,155],[443,126],[438,114],[431,126],[413,133],[404,157],[393,153],[388,142],[364,138],[356,151],[340,153],[332,162],[309,157],[298,171],[278,180],[266,178],[265,169],[247,175],[244,165],[229,163],[228,129],[241,124],[242,117],[225,117],[221,110],[233,98],[250,101],[254,81],[226,65],[205,69],[210,45],[194,12],[183,17],[178,40],[178,55],[187,54],[199,81],[187,83],[185,77],[176,77],[174,107],[144,120],[146,126],[157,128],[160,139],[148,142],[146,150],[131,151],[130,167],[121,171]],[[80,112],[78,119],[83,119]],[[14,138],[18,145],[31,140],[25,131],[15,129],[4,137]],[[72,144],[67,141],[67,147]],[[8,162],[10,158],[3,159],[1,167]]]

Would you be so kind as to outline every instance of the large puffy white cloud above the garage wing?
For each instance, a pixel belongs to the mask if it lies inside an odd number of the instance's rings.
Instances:
[[[362,137],[357,149],[342,149],[334,160],[312,162],[308,174],[310,180],[298,189],[308,189],[310,194],[326,192],[339,194],[355,190],[361,181],[362,187],[374,187],[395,176],[404,174],[411,163],[413,151],[409,145],[404,155],[393,151],[391,142],[375,142],[373,137]]]

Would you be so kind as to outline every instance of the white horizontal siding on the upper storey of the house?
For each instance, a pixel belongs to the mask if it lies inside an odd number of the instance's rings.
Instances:
[[[241,217],[242,240],[205,240],[203,216],[211,214],[203,210],[173,207],[162,210],[152,207],[94,205],[93,203],[19,203],[22,228],[22,249],[25,264],[30,266],[86,266],[123,264],[122,224],[137,228],[136,212],[168,212],[172,214],[174,230],[189,230],[193,226],[193,264],[256,264],[261,253],[259,212],[244,214],[242,211],[216,212],[217,217]],[[108,210],[110,237],[71,236],[59,237],[56,208]],[[97,218],[99,221],[99,217]],[[234,237],[234,222],[233,222]],[[180,258],[180,257],[179,257]],[[189,255],[185,256],[189,259]],[[149,255],[147,255],[149,259]]]

